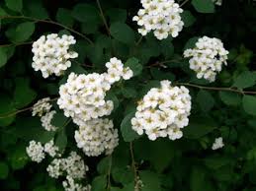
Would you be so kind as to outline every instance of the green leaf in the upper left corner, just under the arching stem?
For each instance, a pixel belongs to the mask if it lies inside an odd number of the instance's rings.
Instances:
[[[6,34],[11,41],[22,42],[29,39],[34,32],[35,32],[35,23],[25,22],[25,23],[19,24],[15,30],[11,29],[10,31],[7,31]]]

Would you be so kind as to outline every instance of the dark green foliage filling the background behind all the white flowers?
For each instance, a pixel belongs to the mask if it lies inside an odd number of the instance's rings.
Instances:
[[[51,158],[36,163],[28,157],[31,140],[54,140],[62,157],[76,151],[89,166],[77,183],[91,184],[92,191],[133,191],[138,179],[141,191],[256,190],[255,10],[249,1],[223,0],[222,6],[212,0],[176,2],[184,4],[184,28],[178,37],[163,40],[153,32],[137,32],[132,17],[141,6],[135,1],[0,2],[1,190],[63,190],[62,179],[50,178],[45,170]],[[79,56],[63,76],[43,79],[31,66],[32,42],[52,32],[72,34],[76,44],[71,49]],[[204,35],[221,39],[229,51],[227,66],[213,83],[197,79],[183,57]],[[106,96],[114,101],[108,118],[119,130],[119,146],[112,155],[89,158],[76,147],[77,125],[58,108],[58,88],[71,72],[106,72],[112,57],[133,72]],[[149,141],[131,128],[137,101],[162,80],[185,86],[192,97],[189,125],[180,140]],[[45,131],[40,117],[32,117],[33,104],[45,96],[56,110],[55,132]],[[224,147],[213,151],[217,137]]]

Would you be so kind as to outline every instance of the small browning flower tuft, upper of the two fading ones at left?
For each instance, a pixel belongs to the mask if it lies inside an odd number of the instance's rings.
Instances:
[[[51,104],[49,103],[49,97],[45,97],[40,99],[38,102],[36,102],[33,105],[33,110],[32,110],[32,116],[40,116],[42,117],[44,113],[47,113],[50,108],[51,108]]]

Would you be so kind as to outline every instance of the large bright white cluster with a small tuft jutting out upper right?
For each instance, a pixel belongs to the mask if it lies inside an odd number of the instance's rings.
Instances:
[[[92,73],[76,75],[71,73],[67,83],[59,88],[60,97],[57,100],[59,108],[64,110],[66,117],[72,117],[74,123],[84,126],[86,121],[110,115],[114,103],[105,100],[111,85],[123,78],[132,77],[132,71],[117,58],[112,58],[106,64],[108,73]]]

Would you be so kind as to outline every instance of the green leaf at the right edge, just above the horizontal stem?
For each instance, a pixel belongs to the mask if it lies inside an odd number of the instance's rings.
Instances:
[[[246,89],[256,84],[256,76],[250,71],[244,71],[235,80],[233,87],[238,89]]]

